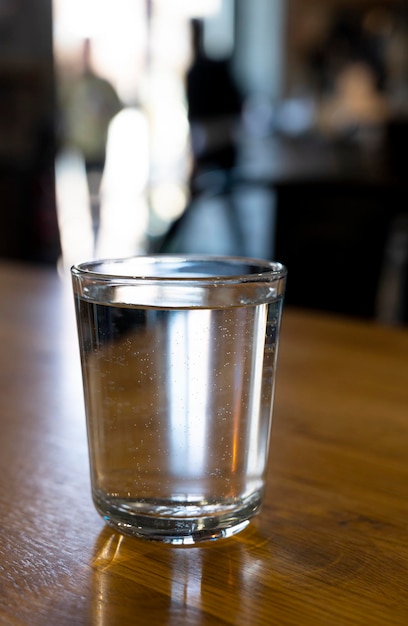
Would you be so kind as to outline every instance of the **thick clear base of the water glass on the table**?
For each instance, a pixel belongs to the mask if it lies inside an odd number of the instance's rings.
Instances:
[[[94,494],[94,504],[105,522],[124,535],[170,543],[194,545],[232,537],[241,532],[259,512],[261,495],[252,494],[234,504],[137,502]]]

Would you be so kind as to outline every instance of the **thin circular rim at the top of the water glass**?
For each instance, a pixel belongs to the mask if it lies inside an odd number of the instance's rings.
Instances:
[[[189,275],[186,273],[185,276],[182,274],[174,274],[169,275],[163,272],[157,273],[149,273],[146,271],[141,271],[140,273],[129,272],[103,272],[98,271],[95,268],[103,265],[111,265],[111,266],[119,266],[125,265],[126,263],[143,261],[153,262],[158,261],[162,263],[182,263],[182,262],[203,262],[203,263],[224,263],[231,264],[231,267],[234,265],[248,265],[257,267],[260,269],[259,272],[253,273],[242,273],[236,272],[231,274],[212,274],[208,273],[207,275],[196,276]],[[146,265],[143,266],[146,269]],[[132,268],[133,269],[133,268]],[[278,262],[278,261],[269,261],[267,259],[261,259],[256,257],[246,257],[246,256],[229,256],[229,255],[207,255],[207,254],[143,254],[143,255],[134,255],[128,257],[116,257],[116,258],[101,258],[94,259],[92,261],[85,261],[82,263],[75,263],[71,267],[71,274],[73,276],[88,278],[90,280],[95,281],[123,281],[123,282],[132,282],[132,281],[152,281],[152,282],[165,282],[165,283],[184,283],[184,282],[193,282],[197,284],[208,283],[231,283],[231,282],[258,282],[259,280],[280,280],[286,277],[287,269],[286,267]]]

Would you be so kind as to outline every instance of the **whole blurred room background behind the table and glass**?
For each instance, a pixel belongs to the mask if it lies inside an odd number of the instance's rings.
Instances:
[[[406,0],[0,0],[0,257],[289,269],[408,320]]]

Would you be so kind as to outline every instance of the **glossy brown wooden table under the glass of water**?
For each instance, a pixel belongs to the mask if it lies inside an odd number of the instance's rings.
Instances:
[[[408,332],[286,309],[241,534],[124,538],[90,496],[68,280],[0,265],[0,624],[408,624]]]

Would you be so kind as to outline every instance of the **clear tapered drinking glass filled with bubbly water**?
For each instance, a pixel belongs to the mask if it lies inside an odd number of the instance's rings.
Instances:
[[[242,530],[264,494],[286,269],[157,255],[71,272],[96,509],[173,544]]]

